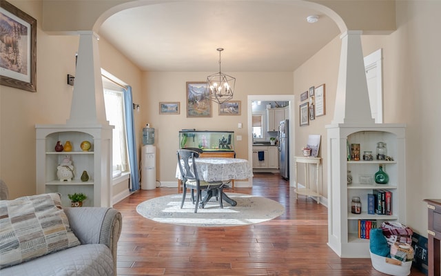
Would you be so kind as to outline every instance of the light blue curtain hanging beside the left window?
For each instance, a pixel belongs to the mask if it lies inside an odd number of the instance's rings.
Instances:
[[[139,190],[138,157],[136,155],[136,135],[133,116],[132,87],[124,90],[125,128],[127,129],[127,148],[129,150],[130,191]]]

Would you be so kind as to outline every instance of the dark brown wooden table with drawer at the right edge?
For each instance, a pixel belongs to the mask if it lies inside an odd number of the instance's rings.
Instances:
[[[441,199],[424,199],[427,202],[428,221],[427,228],[429,276],[441,275]]]

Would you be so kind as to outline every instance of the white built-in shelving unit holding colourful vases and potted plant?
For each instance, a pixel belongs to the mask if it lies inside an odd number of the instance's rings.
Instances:
[[[60,193],[63,206],[70,206],[68,194],[88,196],[83,206],[112,206],[112,127],[88,128],[66,125],[37,125],[37,193]],[[70,141],[72,151],[57,152],[57,141]],[[92,148],[83,151],[82,141],[90,141]],[[60,181],[57,167],[68,156],[74,166],[71,181]],[[89,180],[81,181],[83,171]]]

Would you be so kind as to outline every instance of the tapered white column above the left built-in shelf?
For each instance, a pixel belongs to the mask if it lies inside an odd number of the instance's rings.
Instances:
[[[99,59],[99,37],[93,31],[81,31],[76,61],[74,92],[70,119],[66,124],[100,124],[109,122],[105,117],[103,82]]]

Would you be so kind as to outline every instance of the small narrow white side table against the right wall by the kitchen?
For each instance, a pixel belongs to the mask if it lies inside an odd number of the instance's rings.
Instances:
[[[296,156],[294,157],[294,163],[296,164],[296,176],[294,178],[294,193],[296,193],[296,199],[298,199],[298,195],[306,195],[307,197],[317,197],[317,204],[320,203],[321,195],[318,193],[318,169],[320,166],[321,157],[303,157]],[[305,164],[305,188],[298,188],[297,182],[297,164],[303,163]],[[309,164],[316,164],[316,191],[311,190],[309,186]]]

